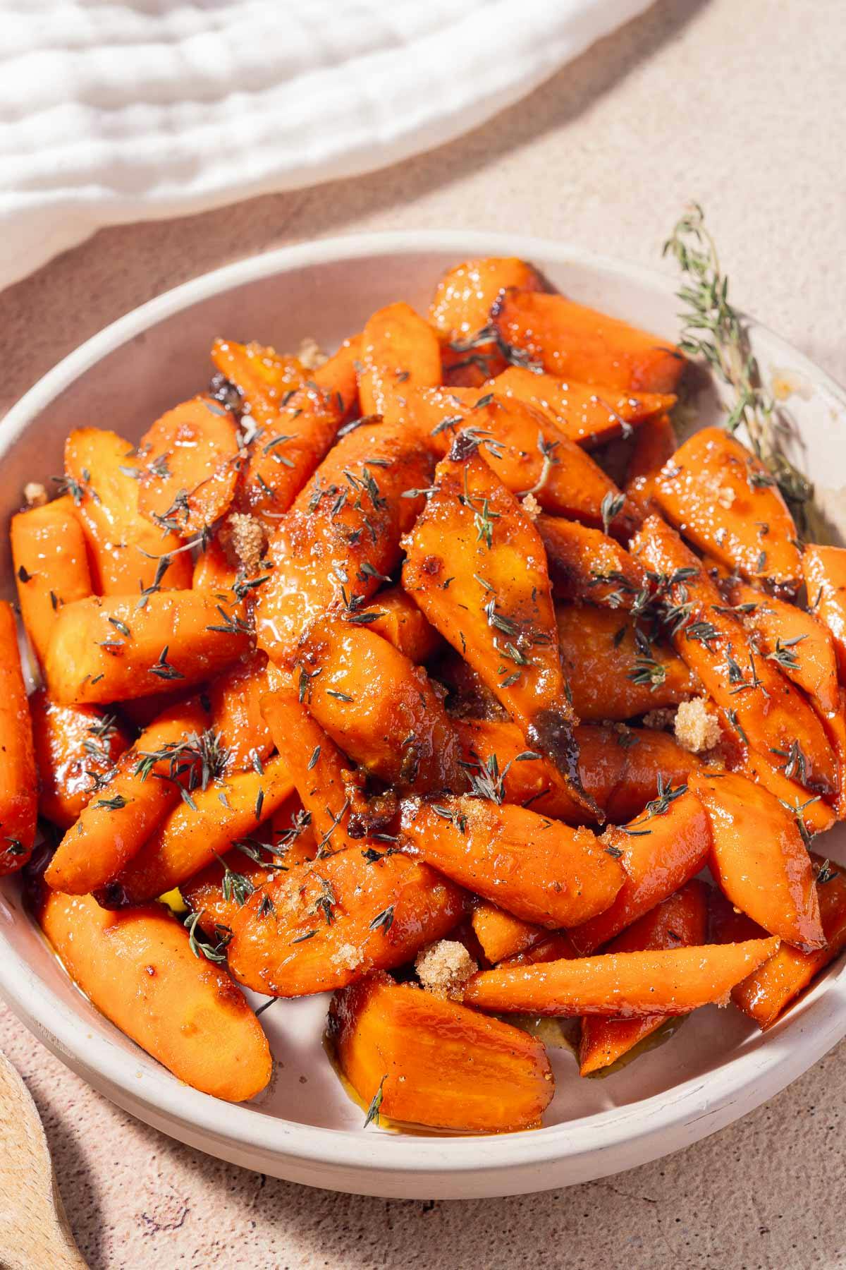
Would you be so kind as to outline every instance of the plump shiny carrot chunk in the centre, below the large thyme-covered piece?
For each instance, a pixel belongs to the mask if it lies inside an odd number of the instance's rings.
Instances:
[[[464,787],[458,734],[441,698],[387,639],[318,617],[301,639],[297,669],[308,679],[309,714],[365,771],[421,794]]]

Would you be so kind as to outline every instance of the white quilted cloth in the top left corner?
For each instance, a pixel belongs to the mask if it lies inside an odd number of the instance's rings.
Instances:
[[[0,0],[0,286],[103,225],[372,171],[649,0]]]

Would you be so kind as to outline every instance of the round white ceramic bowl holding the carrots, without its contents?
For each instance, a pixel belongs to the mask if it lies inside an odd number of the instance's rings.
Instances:
[[[334,347],[374,309],[406,298],[425,307],[435,278],[469,255],[521,255],[568,295],[677,335],[665,278],[556,243],[491,234],[381,234],[274,251],[207,274],[143,305],[65,358],[0,428],[3,523],[27,480],[61,471],[67,431],[115,428],[137,439],[152,419],[204,386],[213,337],[297,348],[302,335]],[[842,470],[842,391],[794,348],[753,326],[765,375],[797,394],[789,406],[808,474],[836,517]],[[713,386],[699,399],[715,418]],[[846,527],[846,517],[843,517]],[[8,588],[6,536],[0,564]],[[824,850],[846,859],[846,834]],[[22,911],[18,885],[0,885],[0,993],[30,1030],[96,1090],[147,1124],[249,1168],[313,1186],[383,1196],[462,1199],[566,1186],[654,1160],[720,1129],[784,1088],[846,1035],[842,959],[765,1036],[733,1010],[708,1007],[663,1046],[604,1080],[580,1080],[554,1050],[557,1093],[545,1128],[477,1137],[413,1137],[361,1128],[322,1048],[326,998],[277,1002],[263,1016],[277,1057],[271,1087],[230,1106],[186,1088],[105,1021],[68,983]]]

